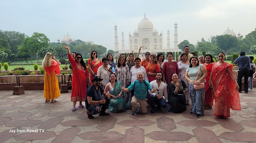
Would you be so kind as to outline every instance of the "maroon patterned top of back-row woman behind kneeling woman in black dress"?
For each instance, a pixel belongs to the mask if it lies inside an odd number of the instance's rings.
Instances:
[[[177,75],[180,74],[179,66],[176,61],[173,61],[172,63],[164,62],[163,63],[163,75],[165,75],[166,83],[169,84],[172,82],[172,74],[177,73]]]

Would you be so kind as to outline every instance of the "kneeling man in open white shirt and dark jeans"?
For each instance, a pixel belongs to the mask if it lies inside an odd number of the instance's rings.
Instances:
[[[150,85],[152,88],[156,89],[154,93],[149,92],[149,103],[151,105],[151,113],[154,113],[154,103],[157,103],[158,110],[161,110],[161,107],[166,108],[166,103],[168,103],[167,86],[165,83],[163,83],[163,75],[161,72],[157,72],[156,80],[151,81]]]

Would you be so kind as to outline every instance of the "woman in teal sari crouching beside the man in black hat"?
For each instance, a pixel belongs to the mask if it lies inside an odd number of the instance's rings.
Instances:
[[[109,111],[112,113],[122,112],[126,108],[124,99],[122,98],[122,84],[116,80],[116,74],[109,75],[109,83],[105,87],[105,92],[110,95]]]

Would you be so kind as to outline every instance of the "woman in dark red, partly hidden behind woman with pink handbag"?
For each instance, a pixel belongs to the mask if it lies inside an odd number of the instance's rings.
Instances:
[[[199,59],[200,61],[200,59]],[[207,54],[204,56],[204,65],[207,69],[207,77],[205,78],[205,96],[204,96],[204,109],[209,109],[212,108],[213,106],[213,98],[212,98],[212,90],[209,87],[209,81],[210,81],[210,76],[212,73],[212,65],[213,65],[213,59],[212,55]]]

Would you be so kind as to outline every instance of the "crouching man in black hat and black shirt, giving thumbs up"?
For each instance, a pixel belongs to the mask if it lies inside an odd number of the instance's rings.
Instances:
[[[99,116],[110,115],[105,112],[108,108],[110,96],[99,86],[102,80],[103,79],[99,76],[95,76],[92,80],[94,84],[87,89],[85,107],[89,119],[93,119],[93,115],[96,114],[99,114]],[[105,97],[102,97],[102,94],[105,95]]]

